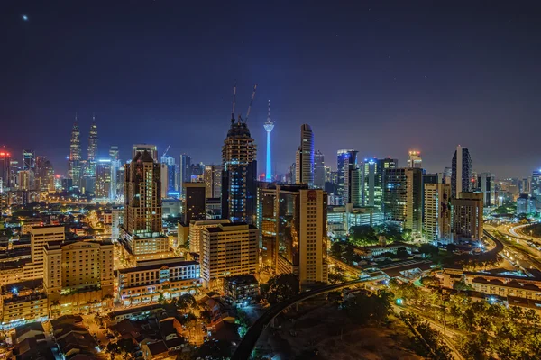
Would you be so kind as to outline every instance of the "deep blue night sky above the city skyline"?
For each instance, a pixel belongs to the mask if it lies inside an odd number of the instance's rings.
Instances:
[[[461,144],[476,171],[530,174],[541,167],[539,2],[436,3],[3,1],[0,145],[34,148],[64,174],[75,112],[83,157],[96,112],[102,157],[146,142],[219,163],[236,80],[243,114],[259,85],[260,173],[271,99],[278,173],[306,122],[333,167],[339,148],[404,166],[417,148],[441,172]]]

